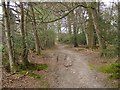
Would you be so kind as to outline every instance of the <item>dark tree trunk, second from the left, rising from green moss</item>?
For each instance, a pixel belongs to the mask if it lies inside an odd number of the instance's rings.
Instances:
[[[20,2],[20,7],[21,7],[20,30],[21,30],[21,36],[22,36],[22,61],[23,61],[23,64],[27,67],[29,64],[29,61],[28,61],[28,50],[26,47],[26,39],[25,39],[24,9],[23,9],[22,2]]]

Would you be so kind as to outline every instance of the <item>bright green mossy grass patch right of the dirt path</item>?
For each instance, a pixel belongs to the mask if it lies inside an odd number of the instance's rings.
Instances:
[[[97,71],[110,74],[110,79],[120,79],[120,63],[100,66]]]

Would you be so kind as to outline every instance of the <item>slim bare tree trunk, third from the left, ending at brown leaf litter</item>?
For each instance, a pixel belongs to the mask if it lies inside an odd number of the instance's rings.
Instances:
[[[30,3],[30,7],[32,10],[32,19],[33,19],[33,32],[34,32],[34,38],[35,38],[35,50],[37,54],[40,54],[40,46],[39,46],[39,38],[38,38],[38,33],[37,33],[37,29],[36,29],[36,20],[35,20],[35,14],[34,14],[34,9],[32,7],[32,4]]]

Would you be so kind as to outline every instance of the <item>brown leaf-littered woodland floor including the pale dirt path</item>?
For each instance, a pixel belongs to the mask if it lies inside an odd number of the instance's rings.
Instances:
[[[98,51],[73,48],[58,44],[45,50],[41,56],[29,54],[33,63],[47,64],[47,70],[35,71],[43,75],[41,80],[18,74],[9,75],[3,70],[3,87],[25,88],[112,88],[116,80],[107,79],[108,75],[91,69],[90,64],[103,65]]]

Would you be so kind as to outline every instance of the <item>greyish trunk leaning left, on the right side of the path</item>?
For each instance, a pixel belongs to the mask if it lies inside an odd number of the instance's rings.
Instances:
[[[105,44],[104,37],[101,35],[99,15],[97,13],[95,4],[96,3],[91,4],[94,7],[91,9],[91,14],[92,14],[93,24],[95,27],[95,31],[97,34],[97,38],[98,38],[98,42],[99,42],[99,46],[100,46],[100,50],[101,50],[101,56],[103,56],[103,50],[106,49],[106,44]]]

